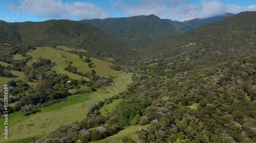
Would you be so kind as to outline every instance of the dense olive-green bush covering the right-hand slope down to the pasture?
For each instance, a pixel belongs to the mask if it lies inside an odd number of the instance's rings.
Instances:
[[[33,141],[111,141],[118,134],[118,141],[136,142],[136,133],[139,142],[256,142],[255,15],[243,12],[148,46],[140,60],[124,60],[136,72],[125,92]],[[121,102],[102,112],[113,100]],[[138,125],[146,128],[120,135]]]

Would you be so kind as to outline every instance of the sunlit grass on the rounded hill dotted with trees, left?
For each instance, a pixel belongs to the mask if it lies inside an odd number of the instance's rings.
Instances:
[[[42,58],[50,59],[52,62],[56,62],[58,65],[57,68],[57,73],[63,73],[69,75],[71,78],[74,79],[80,79],[81,76],[72,74],[68,71],[65,71],[64,68],[66,68],[69,64],[68,62],[71,61],[73,62],[73,66],[78,67],[78,71],[86,73],[86,72],[91,72],[92,70],[96,71],[96,74],[99,76],[109,76],[109,75],[119,75],[122,73],[122,71],[116,71],[110,68],[110,66],[113,66],[113,64],[98,60],[95,58],[90,58],[92,62],[94,63],[94,68],[89,68],[88,63],[83,62],[79,59],[79,56],[76,54],[72,54],[66,51],[61,51],[58,49],[54,49],[51,47],[37,47],[36,50],[32,52],[28,52],[27,55],[32,56],[32,61],[34,62],[37,60],[39,56]],[[62,55],[66,56],[66,58],[62,58]],[[83,59],[86,57],[84,56]],[[68,61],[68,62],[66,62]],[[33,62],[27,63],[27,66],[31,66]]]

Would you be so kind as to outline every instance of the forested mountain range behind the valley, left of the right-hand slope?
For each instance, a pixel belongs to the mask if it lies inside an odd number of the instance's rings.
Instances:
[[[132,48],[143,49],[161,39],[174,37],[200,25],[230,16],[232,15],[226,14],[184,22],[160,19],[155,15],[78,22],[71,20],[22,23],[0,21],[0,40],[2,43],[36,46],[67,45],[84,48],[95,54],[113,56],[112,54],[116,53],[114,51],[118,51],[118,48],[122,51],[126,50],[124,53],[133,53]]]

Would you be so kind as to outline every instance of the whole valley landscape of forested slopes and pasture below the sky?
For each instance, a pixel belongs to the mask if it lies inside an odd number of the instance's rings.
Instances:
[[[256,142],[255,21],[0,21],[0,142]]]

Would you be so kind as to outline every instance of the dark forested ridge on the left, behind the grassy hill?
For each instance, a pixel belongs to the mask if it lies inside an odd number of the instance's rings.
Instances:
[[[103,33],[99,28],[86,23],[70,20],[22,23],[2,21],[0,23],[4,29],[4,32],[1,33],[1,41],[6,43],[51,47],[67,45],[86,49],[94,55],[112,58],[135,53],[129,46],[123,45]]]

